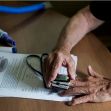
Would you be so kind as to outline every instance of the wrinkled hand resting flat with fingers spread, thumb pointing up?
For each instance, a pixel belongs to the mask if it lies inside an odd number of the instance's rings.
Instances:
[[[62,92],[60,95],[76,96],[68,105],[76,105],[86,102],[105,102],[111,101],[111,80],[96,73],[91,66],[88,67],[89,76],[85,81],[72,80],[71,88]]]

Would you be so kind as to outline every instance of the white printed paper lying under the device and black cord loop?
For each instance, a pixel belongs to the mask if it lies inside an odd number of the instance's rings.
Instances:
[[[52,101],[70,101],[72,97],[60,97],[44,88],[41,77],[26,64],[28,54],[12,54],[0,52],[0,57],[7,58],[8,64],[3,72],[0,72],[0,97],[20,97]],[[39,62],[32,61],[38,69]],[[77,64],[77,57],[75,56]]]

